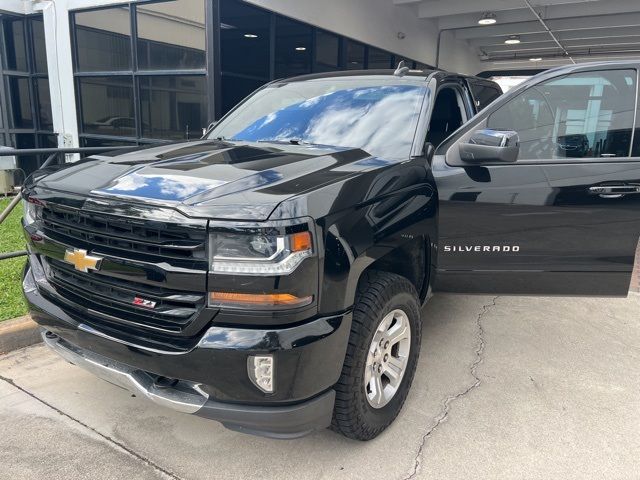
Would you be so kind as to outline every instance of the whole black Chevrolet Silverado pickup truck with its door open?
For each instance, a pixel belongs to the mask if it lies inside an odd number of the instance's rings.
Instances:
[[[506,95],[442,71],[271,83],[199,141],[25,185],[44,341],[244,432],[367,440],[402,408],[431,292],[627,294],[638,63]]]

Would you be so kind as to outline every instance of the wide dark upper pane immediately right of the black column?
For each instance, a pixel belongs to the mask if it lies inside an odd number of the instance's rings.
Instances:
[[[222,71],[268,80],[271,14],[227,1],[222,2],[220,15]]]

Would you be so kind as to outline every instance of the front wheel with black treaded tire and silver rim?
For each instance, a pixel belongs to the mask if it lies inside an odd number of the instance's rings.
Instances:
[[[331,427],[371,440],[398,416],[420,353],[420,302],[404,277],[367,272],[358,285]]]

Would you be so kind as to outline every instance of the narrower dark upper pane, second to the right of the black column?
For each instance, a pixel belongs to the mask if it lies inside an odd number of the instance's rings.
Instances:
[[[311,72],[311,27],[284,17],[276,18],[276,77]]]

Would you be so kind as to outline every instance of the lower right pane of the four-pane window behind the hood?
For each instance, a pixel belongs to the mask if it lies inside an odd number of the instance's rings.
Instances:
[[[207,126],[204,76],[140,77],[142,136],[188,140]]]

